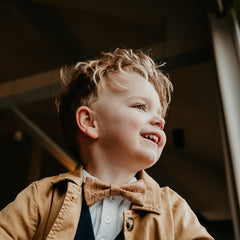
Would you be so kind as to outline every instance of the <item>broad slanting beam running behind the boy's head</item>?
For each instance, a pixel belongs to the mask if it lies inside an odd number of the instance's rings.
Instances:
[[[167,58],[154,46],[152,52],[156,61],[167,63],[167,70],[209,61],[213,58],[208,48],[192,50]],[[59,72],[60,69],[55,69],[0,84],[0,109],[54,97],[60,89]]]

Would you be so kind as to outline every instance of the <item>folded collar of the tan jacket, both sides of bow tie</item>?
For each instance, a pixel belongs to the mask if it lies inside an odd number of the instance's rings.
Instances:
[[[83,182],[82,170],[83,166],[80,165],[73,172],[62,173],[52,181],[52,184],[62,181],[71,181],[78,186],[81,186]],[[144,170],[140,172],[140,179],[142,179],[146,185],[144,205],[138,206],[133,204],[132,209],[161,214],[161,192],[159,191],[158,183],[154,181]]]

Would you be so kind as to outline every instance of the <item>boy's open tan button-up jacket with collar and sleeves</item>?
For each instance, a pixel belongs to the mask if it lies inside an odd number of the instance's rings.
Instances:
[[[124,212],[126,240],[213,239],[186,201],[145,171],[143,207]],[[82,205],[82,167],[34,182],[0,212],[0,239],[74,239]]]

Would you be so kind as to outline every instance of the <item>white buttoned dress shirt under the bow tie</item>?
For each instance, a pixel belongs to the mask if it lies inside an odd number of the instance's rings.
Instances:
[[[87,177],[95,178],[85,169],[83,182]],[[129,182],[137,181],[134,177]],[[109,196],[89,207],[96,240],[113,240],[123,228],[123,211],[130,209],[132,202],[121,196]]]

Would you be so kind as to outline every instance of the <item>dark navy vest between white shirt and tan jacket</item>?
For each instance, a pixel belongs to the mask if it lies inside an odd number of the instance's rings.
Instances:
[[[82,198],[82,211],[74,240],[95,240],[92,219],[84,195]],[[124,240],[123,230],[114,240]]]

